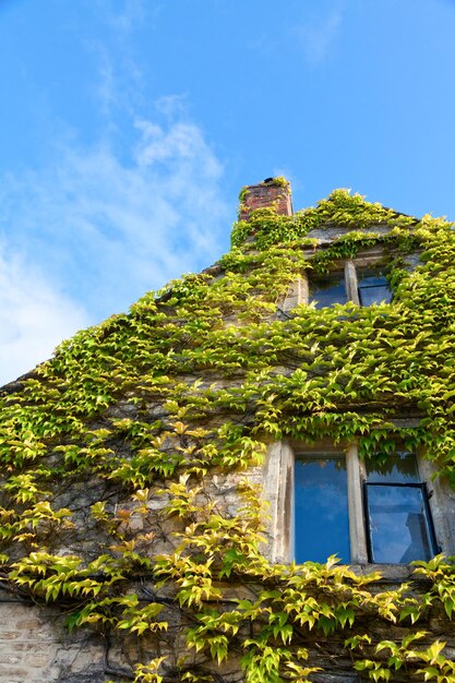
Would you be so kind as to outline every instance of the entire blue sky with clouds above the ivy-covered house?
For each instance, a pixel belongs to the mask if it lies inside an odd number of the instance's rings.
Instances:
[[[455,0],[0,0],[0,383],[228,249],[243,184],[455,219]]]

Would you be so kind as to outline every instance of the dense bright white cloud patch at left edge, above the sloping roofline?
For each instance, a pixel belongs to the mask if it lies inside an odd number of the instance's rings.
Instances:
[[[82,307],[0,248],[0,385],[46,360],[62,338],[87,324]]]

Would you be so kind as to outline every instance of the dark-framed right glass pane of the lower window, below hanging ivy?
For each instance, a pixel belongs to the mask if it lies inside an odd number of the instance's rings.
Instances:
[[[407,564],[432,556],[420,487],[367,484],[372,562]]]

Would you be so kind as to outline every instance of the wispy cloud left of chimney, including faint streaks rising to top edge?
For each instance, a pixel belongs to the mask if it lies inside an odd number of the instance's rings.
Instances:
[[[96,0],[109,28],[81,38],[94,63],[98,141],[82,143],[56,117],[46,161],[0,178],[0,384],[81,326],[209,265],[228,241],[223,165],[184,96],[157,93],[145,105],[132,34],[160,3],[118,7]]]

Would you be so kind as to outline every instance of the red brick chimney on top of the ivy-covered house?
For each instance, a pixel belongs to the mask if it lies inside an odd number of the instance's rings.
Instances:
[[[275,206],[282,216],[292,215],[290,184],[285,178],[266,178],[256,185],[246,185],[240,193],[240,220],[249,220],[255,208]]]

